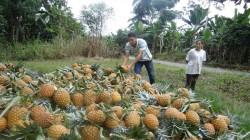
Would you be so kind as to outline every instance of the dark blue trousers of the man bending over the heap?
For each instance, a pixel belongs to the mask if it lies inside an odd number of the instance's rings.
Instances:
[[[135,73],[136,74],[141,74],[141,68],[142,68],[143,65],[145,65],[146,70],[148,72],[148,77],[149,77],[150,84],[155,83],[154,66],[153,66],[153,61],[152,60],[150,60],[150,61],[138,61],[135,64],[135,68],[134,68]]]

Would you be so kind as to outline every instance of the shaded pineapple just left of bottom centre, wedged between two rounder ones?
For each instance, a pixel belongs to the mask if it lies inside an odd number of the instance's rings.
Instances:
[[[109,129],[117,128],[120,125],[120,120],[115,113],[112,113],[109,116],[107,116],[104,125]]]

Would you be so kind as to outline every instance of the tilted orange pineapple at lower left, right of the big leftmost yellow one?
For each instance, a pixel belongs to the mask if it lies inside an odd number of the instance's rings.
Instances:
[[[31,109],[31,118],[43,128],[49,127],[52,122],[52,115],[42,106],[35,106]]]

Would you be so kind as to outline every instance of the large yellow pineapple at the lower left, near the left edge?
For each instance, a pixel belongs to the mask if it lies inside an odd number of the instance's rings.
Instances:
[[[28,110],[24,107],[14,106],[7,114],[8,127],[12,128],[15,125],[20,125],[22,119],[27,115]]]

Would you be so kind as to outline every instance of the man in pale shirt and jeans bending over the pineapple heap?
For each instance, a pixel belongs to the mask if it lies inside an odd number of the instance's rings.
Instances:
[[[135,60],[131,64],[127,64],[129,55],[135,56]],[[135,33],[128,34],[128,43],[125,46],[125,57],[123,65],[127,66],[128,69],[134,67],[136,74],[141,73],[141,68],[145,65],[148,72],[149,81],[151,84],[155,82],[154,78],[154,67],[152,62],[152,54],[148,48],[147,42],[144,39],[137,38]]]

